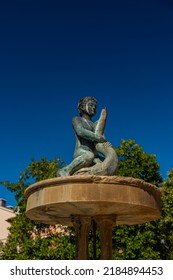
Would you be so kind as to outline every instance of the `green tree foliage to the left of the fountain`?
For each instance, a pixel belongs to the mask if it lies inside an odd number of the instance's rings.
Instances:
[[[43,231],[47,225],[30,221],[25,216],[26,199],[25,189],[34,182],[53,178],[56,171],[64,165],[60,159],[31,161],[31,164],[21,173],[17,183],[1,182],[10,191],[15,193],[17,201],[16,217],[11,222],[10,234],[4,246],[1,246],[0,258],[5,260],[18,259],[74,259],[75,240],[71,229],[68,235],[55,233],[43,238],[33,232]],[[54,250],[52,250],[54,248]]]

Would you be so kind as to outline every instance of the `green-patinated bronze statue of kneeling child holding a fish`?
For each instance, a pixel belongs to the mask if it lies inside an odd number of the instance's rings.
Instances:
[[[93,122],[97,101],[86,96],[80,99],[78,110],[80,117],[73,117],[72,125],[76,136],[74,160],[58,170],[57,176],[71,175],[115,175],[117,155],[112,145],[106,141],[104,128],[107,110],[103,109],[98,121]],[[103,156],[100,156],[99,154]]]

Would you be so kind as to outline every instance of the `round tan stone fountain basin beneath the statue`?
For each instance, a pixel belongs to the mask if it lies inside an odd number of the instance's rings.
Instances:
[[[72,225],[75,216],[115,215],[116,224],[142,224],[160,217],[160,189],[121,176],[67,176],[30,185],[26,216],[45,224]]]

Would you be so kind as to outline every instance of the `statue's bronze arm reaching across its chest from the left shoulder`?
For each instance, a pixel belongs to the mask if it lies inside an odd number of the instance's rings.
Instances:
[[[93,142],[105,142],[104,136],[95,134],[93,131],[85,129],[82,125],[80,117],[74,117],[72,120],[72,125],[78,136]]]

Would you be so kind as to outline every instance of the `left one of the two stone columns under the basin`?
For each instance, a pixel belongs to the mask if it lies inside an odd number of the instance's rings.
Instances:
[[[78,260],[88,260],[88,235],[91,226],[91,217],[75,216],[73,224],[77,230],[76,258]]]

